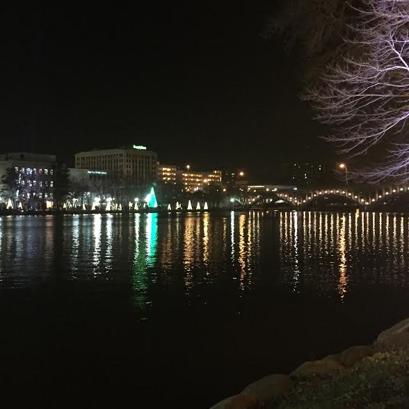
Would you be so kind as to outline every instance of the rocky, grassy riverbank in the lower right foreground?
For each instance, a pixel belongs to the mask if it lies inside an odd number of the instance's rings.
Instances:
[[[251,383],[211,409],[408,408],[409,319],[372,345],[307,361]]]

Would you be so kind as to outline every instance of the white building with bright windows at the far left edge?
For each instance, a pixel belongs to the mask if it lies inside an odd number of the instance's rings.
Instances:
[[[27,209],[51,207],[55,166],[55,155],[0,154],[0,177],[5,175],[9,179],[8,184],[1,186],[1,201]]]

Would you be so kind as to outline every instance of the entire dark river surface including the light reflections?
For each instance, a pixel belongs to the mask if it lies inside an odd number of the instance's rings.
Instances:
[[[0,218],[2,392],[207,408],[409,316],[409,218]]]

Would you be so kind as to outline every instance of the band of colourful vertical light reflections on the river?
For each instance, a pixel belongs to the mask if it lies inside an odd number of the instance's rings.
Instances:
[[[39,287],[61,270],[71,282],[105,278],[95,285],[107,290],[130,285],[143,308],[158,291],[189,300],[220,284],[240,296],[269,276],[289,294],[344,300],[362,284],[408,286],[408,225],[359,211],[5,217],[0,288]]]

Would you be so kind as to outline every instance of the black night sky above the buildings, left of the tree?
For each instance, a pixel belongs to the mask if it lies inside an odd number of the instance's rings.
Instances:
[[[275,1],[83,3],[3,11],[2,152],[72,164],[135,143],[258,177],[329,149],[297,98],[298,56],[260,35]]]

